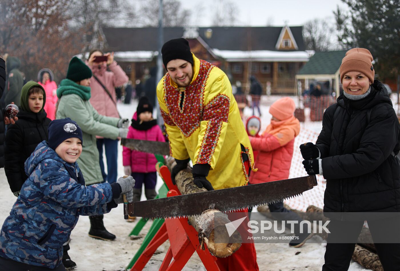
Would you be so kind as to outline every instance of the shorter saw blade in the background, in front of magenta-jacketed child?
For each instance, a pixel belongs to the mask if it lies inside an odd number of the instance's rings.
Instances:
[[[130,149],[134,149],[135,151],[170,155],[170,145],[167,142],[122,138],[121,145]]]

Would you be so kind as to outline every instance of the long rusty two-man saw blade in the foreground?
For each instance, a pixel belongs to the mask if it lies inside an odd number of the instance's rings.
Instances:
[[[161,199],[150,199],[133,203],[131,216],[145,218],[172,218],[200,215],[207,209],[232,212],[257,205],[276,203],[294,196],[317,185],[315,175],[270,181],[204,191]]]

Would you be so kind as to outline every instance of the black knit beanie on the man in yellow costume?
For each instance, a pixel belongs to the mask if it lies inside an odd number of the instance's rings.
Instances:
[[[169,40],[161,48],[162,62],[167,68],[168,62],[174,59],[183,59],[193,65],[193,56],[190,52],[189,42],[184,38]]]

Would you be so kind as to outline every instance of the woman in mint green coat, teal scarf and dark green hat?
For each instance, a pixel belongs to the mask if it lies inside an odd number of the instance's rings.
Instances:
[[[96,145],[96,136],[111,139],[126,137],[129,123],[127,120],[102,116],[90,104],[90,78],[92,71],[82,60],[72,58],[68,66],[67,78],[60,82],[57,89],[58,106],[56,118],[71,118],[82,129],[82,154],[77,162],[83,175],[85,184],[103,182],[99,164],[99,153]],[[104,240],[113,240],[115,235],[109,233],[103,225],[103,216],[90,218],[89,236]]]

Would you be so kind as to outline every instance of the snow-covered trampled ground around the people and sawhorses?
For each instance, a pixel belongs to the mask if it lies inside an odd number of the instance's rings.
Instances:
[[[263,98],[262,100],[262,127],[269,124],[270,114],[268,109],[270,104],[280,98],[272,96]],[[294,97],[293,97],[294,98]],[[296,98],[294,98],[296,101]],[[120,114],[124,118],[132,118],[136,111],[137,102],[131,105],[118,104]],[[251,110],[246,108],[245,115],[250,116]],[[307,112],[306,112],[307,113]],[[302,127],[307,127],[315,132],[320,132],[321,122],[306,122]],[[118,157],[118,173],[124,175],[124,167],[122,166],[122,147],[119,146]],[[158,180],[158,187],[162,185],[161,179]],[[8,216],[12,205],[15,201],[14,195],[11,193],[4,173],[4,169],[0,169],[0,222]],[[142,199],[144,196],[142,195]],[[140,247],[143,237],[146,235],[150,227],[150,222],[146,224],[140,239],[131,240],[128,234],[136,224],[124,221],[122,205],[113,209],[111,213],[104,216],[104,224],[106,228],[114,233],[117,238],[114,241],[101,241],[88,236],[90,227],[88,217],[80,217],[78,224],[71,235],[69,255],[76,262],[78,268],[76,271],[120,271],[130,262],[138,248]],[[321,270],[324,263],[325,244],[319,237],[312,237],[312,240],[321,243],[306,243],[300,248],[291,248],[285,243],[261,244],[256,243],[257,261],[262,271],[290,271],[290,270]],[[165,253],[168,249],[168,241],[159,249],[158,254],[154,255],[146,265],[144,270],[158,270]],[[300,253],[299,253],[300,252]],[[1,269],[1,268],[0,268]],[[183,270],[205,270],[202,263],[194,254]],[[352,262],[350,271],[366,271],[358,263]]]

